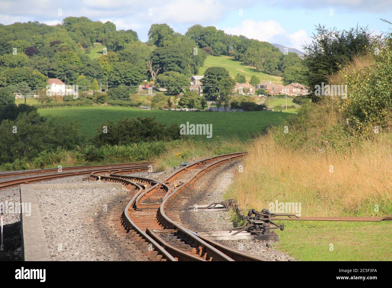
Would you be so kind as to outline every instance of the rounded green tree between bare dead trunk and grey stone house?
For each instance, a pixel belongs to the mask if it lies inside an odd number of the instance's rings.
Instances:
[[[174,71],[163,72],[156,77],[156,85],[167,89],[168,93],[180,94],[189,89],[189,78]]]

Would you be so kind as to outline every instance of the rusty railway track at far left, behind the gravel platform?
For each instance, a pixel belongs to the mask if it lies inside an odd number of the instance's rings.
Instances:
[[[102,173],[104,173],[104,172],[106,172],[106,173],[119,172],[122,170],[125,170],[128,172],[131,172],[131,171],[132,172],[141,172],[141,171],[147,171],[151,167],[150,165],[151,165],[151,162],[134,162],[134,163],[120,164],[120,167],[118,165],[65,167],[62,169],[63,170],[64,169],[75,170],[75,169],[80,169],[80,167],[89,168],[89,169],[76,170],[76,171],[72,171],[72,172],[53,173],[53,174],[49,174],[49,175],[38,175],[38,176],[2,181],[2,182],[0,182],[0,189],[7,188],[7,187],[14,187],[14,186],[18,186],[21,184],[29,184],[29,183],[40,182],[40,181],[48,181],[48,180],[52,180],[52,179],[56,179],[56,178],[64,178],[64,177],[70,177],[70,176],[91,174],[92,172],[96,172],[97,168],[100,168],[100,167],[106,167],[106,169],[104,169],[104,170],[99,170]],[[49,169],[49,170],[52,170],[52,169]],[[41,172],[41,171],[48,171],[48,170],[47,169],[34,170],[34,174],[47,173],[47,172]],[[32,172],[32,171],[27,171],[27,172]],[[16,176],[23,176],[23,175],[26,175],[26,174],[23,172],[16,172],[16,173],[8,173],[7,177],[16,177]]]

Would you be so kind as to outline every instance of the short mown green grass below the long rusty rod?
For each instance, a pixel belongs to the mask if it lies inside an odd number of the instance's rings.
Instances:
[[[390,241],[392,239],[392,229],[387,221],[298,221],[302,222],[301,224],[284,222],[285,230],[277,232],[280,240],[272,247],[298,260],[392,260],[392,241]],[[330,247],[333,247],[332,251]]]

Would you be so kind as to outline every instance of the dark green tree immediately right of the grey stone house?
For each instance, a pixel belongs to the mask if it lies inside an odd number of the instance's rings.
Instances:
[[[200,80],[203,83],[203,94],[209,98],[217,98],[220,94],[219,82],[229,77],[229,71],[223,67],[207,68],[204,77]]]

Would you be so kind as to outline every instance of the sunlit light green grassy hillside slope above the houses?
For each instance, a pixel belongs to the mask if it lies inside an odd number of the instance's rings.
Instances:
[[[209,67],[224,67],[226,68],[231,77],[235,77],[238,73],[243,74],[247,81],[250,80],[252,75],[256,75],[261,81],[272,81],[272,83],[281,84],[282,78],[272,76],[263,72],[258,72],[254,67],[243,65],[242,62],[235,60],[230,56],[211,56],[207,55],[204,65],[199,69],[199,75],[203,75]]]

